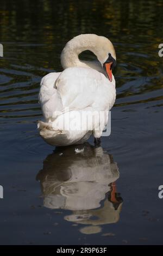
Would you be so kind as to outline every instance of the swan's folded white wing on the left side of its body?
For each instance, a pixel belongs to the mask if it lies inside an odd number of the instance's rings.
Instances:
[[[55,82],[60,75],[58,73],[50,73],[41,80],[41,88],[39,93],[39,102],[42,108],[43,117],[46,121],[55,119],[57,114],[63,109],[61,96],[56,89]]]

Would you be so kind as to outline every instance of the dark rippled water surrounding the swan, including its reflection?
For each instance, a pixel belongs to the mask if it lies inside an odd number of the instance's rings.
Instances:
[[[162,244],[162,11],[161,0],[1,0],[1,244]],[[39,137],[37,96],[81,33],[114,43],[117,99],[103,149],[76,154]]]

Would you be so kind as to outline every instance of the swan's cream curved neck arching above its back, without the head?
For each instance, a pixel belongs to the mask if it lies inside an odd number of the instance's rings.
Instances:
[[[98,58],[98,47],[97,47],[97,37],[92,35],[90,38],[85,38],[81,36],[78,40],[73,38],[71,41],[67,42],[64,50],[61,53],[61,65],[64,69],[70,68],[73,66],[85,67],[85,68],[95,68],[93,62],[88,62],[79,59],[79,54],[83,51],[89,50],[93,52]],[[96,64],[98,68],[102,69],[101,64]]]

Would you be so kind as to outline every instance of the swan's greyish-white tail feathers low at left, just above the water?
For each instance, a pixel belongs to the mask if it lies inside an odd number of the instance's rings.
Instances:
[[[37,128],[39,129],[40,136],[43,138],[43,140],[52,146],[70,144],[68,141],[68,131],[54,130],[52,123],[44,123],[43,121],[39,121],[37,123]]]

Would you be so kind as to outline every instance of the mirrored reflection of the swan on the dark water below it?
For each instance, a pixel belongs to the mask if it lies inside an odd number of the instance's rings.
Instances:
[[[115,185],[119,175],[111,155],[85,143],[56,148],[36,179],[45,207],[72,210],[65,220],[89,225],[80,231],[92,234],[101,231],[98,225],[119,220],[122,198]]]

